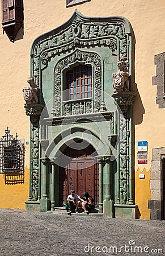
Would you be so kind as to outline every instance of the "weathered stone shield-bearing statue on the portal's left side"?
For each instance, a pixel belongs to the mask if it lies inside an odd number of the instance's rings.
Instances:
[[[26,104],[37,104],[39,101],[37,96],[39,86],[36,85],[34,77],[29,77],[27,82],[29,86],[23,88],[24,100]]]

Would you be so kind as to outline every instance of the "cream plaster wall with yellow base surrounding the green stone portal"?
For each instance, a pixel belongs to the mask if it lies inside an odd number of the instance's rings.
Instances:
[[[152,85],[152,77],[156,75],[154,55],[165,52],[164,1],[91,0],[69,8],[66,8],[65,2],[66,0],[24,1],[24,37],[15,43],[11,43],[6,34],[3,35],[2,26],[0,26],[0,113],[2,118],[0,138],[6,127],[9,126],[12,134],[17,132],[19,138],[29,141],[29,117],[26,116],[23,108],[22,88],[27,86],[27,78],[30,76],[29,52],[33,40],[66,22],[74,13],[75,8],[86,16],[120,15],[130,21],[136,38],[136,84],[133,88],[137,92],[133,108],[135,152],[137,152],[137,141],[148,141],[149,143],[148,164],[139,166],[135,153],[134,169],[141,168],[143,170],[143,168],[146,168],[146,170],[149,170],[152,148],[165,146],[165,109],[159,109],[156,105],[156,86]],[[25,164],[29,168],[28,147],[26,148]],[[11,205],[9,201],[7,203],[6,199],[9,195],[11,197],[12,191],[15,192],[15,195],[19,195],[19,191],[22,189],[24,196],[19,197],[19,205],[15,204],[15,207],[24,208],[24,200],[27,200],[27,176],[26,173],[24,184],[5,185],[3,175],[0,175],[1,192],[3,187],[0,207],[14,207],[14,204]],[[143,184],[145,181],[137,181],[136,179],[136,189],[139,182]],[[137,197],[136,202],[138,202]],[[142,211],[141,217],[145,218],[147,214],[148,210],[146,213]]]

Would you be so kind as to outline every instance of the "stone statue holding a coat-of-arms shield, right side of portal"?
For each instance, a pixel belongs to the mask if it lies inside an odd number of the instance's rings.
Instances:
[[[128,92],[129,91],[129,71],[125,67],[124,61],[117,61],[119,70],[112,74],[113,77],[113,92]]]

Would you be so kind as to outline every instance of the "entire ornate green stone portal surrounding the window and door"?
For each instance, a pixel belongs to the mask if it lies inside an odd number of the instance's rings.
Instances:
[[[84,139],[95,149],[99,163],[99,213],[136,217],[132,195],[134,43],[125,18],[91,18],[77,10],[62,26],[33,42],[31,76],[39,86],[39,102],[31,108],[25,105],[31,117],[27,209],[36,209],[36,202],[40,210],[59,206],[60,166],[68,161],[62,152],[71,141]],[[117,61],[123,61],[129,71],[129,90],[113,93]],[[92,98],[66,102],[66,73],[78,65],[92,67]],[[84,131],[90,132],[90,138]]]

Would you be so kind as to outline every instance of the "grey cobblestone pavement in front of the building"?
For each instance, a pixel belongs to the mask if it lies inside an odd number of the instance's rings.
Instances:
[[[5,256],[165,255],[165,221],[0,209],[0,227]]]

